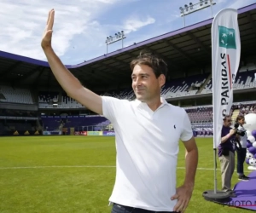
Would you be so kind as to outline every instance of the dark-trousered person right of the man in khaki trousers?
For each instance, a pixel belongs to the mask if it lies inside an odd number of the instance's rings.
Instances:
[[[239,115],[236,118],[236,135],[239,135],[239,141],[237,141],[237,144],[239,147],[236,146],[236,153],[237,153],[237,164],[236,164],[236,170],[238,175],[238,180],[241,181],[248,181],[249,178],[244,175],[243,173],[243,163],[245,161],[246,155],[247,155],[247,134],[246,130],[243,127],[243,124],[245,123],[245,119],[243,116]]]

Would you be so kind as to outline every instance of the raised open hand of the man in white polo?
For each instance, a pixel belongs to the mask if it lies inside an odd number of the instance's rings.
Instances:
[[[42,38],[41,46],[43,49],[51,47],[52,28],[55,20],[55,10],[51,9],[48,14],[48,20],[45,26],[44,35]]]

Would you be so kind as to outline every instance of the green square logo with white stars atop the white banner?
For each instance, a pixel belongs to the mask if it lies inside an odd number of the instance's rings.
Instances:
[[[236,49],[235,29],[218,26],[218,43],[219,47],[226,49]]]

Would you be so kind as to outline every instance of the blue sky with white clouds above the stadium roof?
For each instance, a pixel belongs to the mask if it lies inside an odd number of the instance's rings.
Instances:
[[[106,37],[124,31],[124,47],[183,28],[180,7],[199,0],[1,0],[0,50],[46,60],[40,43],[50,9],[55,9],[52,46],[65,65],[107,53]],[[214,0],[212,14],[240,9],[256,0]],[[186,26],[211,18],[203,9],[185,18]],[[108,53],[122,43],[108,46]]]

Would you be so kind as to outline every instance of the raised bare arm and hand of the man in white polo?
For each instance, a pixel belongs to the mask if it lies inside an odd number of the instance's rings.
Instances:
[[[62,89],[67,92],[67,95],[79,101],[84,107],[89,108],[91,111],[98,114],[102,114],[102,97],[96,95],[79,82],[77,78],[73,76],[66,66],[63,65],[61,60],[55,51],[52,49],[51,38],[53,32],[55,11],[52,9],[49,11],[47,24],[42,38],[41,46],[44,50],[44,54],[49,62],[51,71],[53,72],[58,83],[61,84]]]

